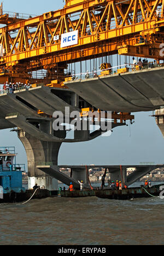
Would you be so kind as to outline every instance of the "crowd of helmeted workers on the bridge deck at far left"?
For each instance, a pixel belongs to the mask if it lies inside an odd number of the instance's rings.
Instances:
[[[3,85],[3,93],[7,94],[8,92],[10,94],[13,94],[14,91],[16,90],[22,90],[22,89],[30,89],[31,88],[31,84],[23,84],[23,83],[8,83],[6,82]]]

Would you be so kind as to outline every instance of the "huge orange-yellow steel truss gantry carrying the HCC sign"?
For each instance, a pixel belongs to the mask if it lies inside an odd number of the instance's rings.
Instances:
[[[0,82],[26,83],[31,72],[45,69],[45,83],[57,80],[58,86],[68,63],[102,54],[163,60],[163,8],[164,0],[67,0],[63,9],[25,19],[1,7]],[[62,34],[72,31],[78,31],[78,43],[62,48]]]

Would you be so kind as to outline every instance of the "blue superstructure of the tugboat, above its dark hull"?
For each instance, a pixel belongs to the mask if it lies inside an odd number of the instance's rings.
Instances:
[[[16,164],[15,147],[0,147],[0,189],[1,195],[25,193],[22,187],[22,172],[25,172],[25,164]]]

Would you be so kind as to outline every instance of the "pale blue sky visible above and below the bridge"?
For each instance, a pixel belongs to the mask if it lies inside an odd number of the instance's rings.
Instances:
[[[4,10],[16,13],[42,14],[63,7],[63,0],[4,0]],[[1,111],[1,109],[0,109]],[[60,165],[137,165],[140,162],[164,164],[164,139],[150,117],[152,112],[134,113],[135,123],[116,127],[110,137],[98,137],[90,142],[63,143],[60,149]],[[24,146],[15,132],[0,131],[1,147],[16,147],[17,163],[27,164]]]

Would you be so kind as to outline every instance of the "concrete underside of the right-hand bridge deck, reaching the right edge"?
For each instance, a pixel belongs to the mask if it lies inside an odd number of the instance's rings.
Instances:
[[[164,106],[163,82],[164,68],[161,67],[65,84],[99,109],[139,112]]]

